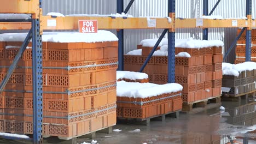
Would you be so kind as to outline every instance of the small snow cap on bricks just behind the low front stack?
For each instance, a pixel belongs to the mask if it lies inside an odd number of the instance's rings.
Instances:
[[[145,73],[137,73],[133,71],[117,71],[117,80],[119,79],[143,80],[148,79],[148,75]]]

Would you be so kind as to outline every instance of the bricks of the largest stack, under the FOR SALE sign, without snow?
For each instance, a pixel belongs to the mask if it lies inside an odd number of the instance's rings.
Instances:
[[[19,50],[8,45],[21,43],[0,43],[1,66],[10,66]],[[75,137],[116,123],[117,53],[117,41],[43,43],[43,135]],[[97,64],[105,65],[83,67]],[[1,95],[1,132],[32,134],[31,67],[32,49],[26,49]],[[0,69],[1,81],[7,70]]]

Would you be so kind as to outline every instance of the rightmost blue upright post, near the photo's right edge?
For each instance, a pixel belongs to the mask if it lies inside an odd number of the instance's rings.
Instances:
[[[252,0],[246,0],[246,16],[247,19],[252,19]],[[252,50],[252,28],[246,29],[246,62],[251,61]]]

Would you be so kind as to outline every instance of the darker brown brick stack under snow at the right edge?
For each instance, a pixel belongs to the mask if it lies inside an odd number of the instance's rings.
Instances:
[[[223,75],[222,87],[229,87],[229,92],[222,92],[231,97],[256,91],[256,69],[242,71],[238,76]]]

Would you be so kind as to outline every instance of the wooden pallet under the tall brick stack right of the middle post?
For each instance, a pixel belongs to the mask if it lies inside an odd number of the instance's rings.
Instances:
[[[221,106],[220,95],[217,97],[211,97],[203,100],[193,101],[191,103],[182,104],[182,113],[198,113],[208,109]]]

